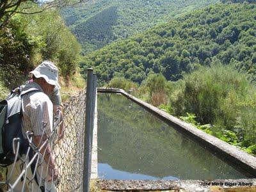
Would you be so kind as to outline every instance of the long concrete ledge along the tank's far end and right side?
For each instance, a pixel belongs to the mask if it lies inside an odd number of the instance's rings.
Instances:
[[[126,93],[124,90],[98,88],[98,92],[122,93],[122,95],[133,100],[137,104],[140,104],[140,106],[148,111],[156,114],[168,124],[173,125],[178,131],[186,133],[188,136],[197,140],[205,147],[210,148],[212,152],[216,152],[217,156],[224,157],[225,160],[227,159],[226,161],[228,163],[233,164],[233,166],[238,166],[239,169],[243,169],[245,172],[250,173],[250,175],[248,175],[249,177],[256,177],[256,157],[251,156],[239,148],[234,147],[225,141],[221,141],[220,139],[211,136],[200,129],[197,129],[193,125],[182,122],[182,120],[179,120],[179,118],[175,118],[161,109],[158,109],[147,102],[143,102],[129,93]]]

